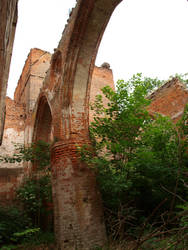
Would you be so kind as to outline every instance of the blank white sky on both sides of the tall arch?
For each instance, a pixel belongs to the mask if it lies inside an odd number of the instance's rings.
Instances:
[[[53,53],[75,0],[19,0],[7,95],[31,48]],[[114,81],[144,76],[168,79],[188,72],[188,1],[123,0],[106,28],[96,65],[108,62]]]

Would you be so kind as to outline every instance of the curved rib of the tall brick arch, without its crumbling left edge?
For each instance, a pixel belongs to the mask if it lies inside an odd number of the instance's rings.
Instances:
[[[77,21],[72,32],[66,59],[64,84],[69,82],[68,95],[62,107],[70,107],[69,133],[72,140],[88,138],[88,112],[91,76],[98,47],[115,7],[121,0],[80,1]],[[79,31],[78,31],[79,30]],[[71,83],[71,84],[70,84]]]

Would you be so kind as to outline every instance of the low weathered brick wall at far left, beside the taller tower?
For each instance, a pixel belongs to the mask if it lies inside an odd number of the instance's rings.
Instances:
[[[12,156],[16,153],[15,144],[24,141],[25,109],[23,105],[16,104],[6,97],[6,119],[3,142],[0,154]],[[15,198],[15,190],[24,177],[22,163],[0,162],[0,204],[11,204]]]

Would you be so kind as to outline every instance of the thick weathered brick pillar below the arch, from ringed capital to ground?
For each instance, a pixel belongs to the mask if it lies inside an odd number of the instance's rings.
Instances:
[[[79,161],[76,145],[58,142],[52,148],[54,223],[61,250],[87,250],[106,241],[95,175]]]

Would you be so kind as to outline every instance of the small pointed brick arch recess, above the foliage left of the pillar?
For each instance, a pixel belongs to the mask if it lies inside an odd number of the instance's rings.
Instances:
[[[38,101],[38,109],[33,132],[33,142],[39,140],[48,143],[52,142],[52,132],[52,112],[47,98],[43,95]]]

